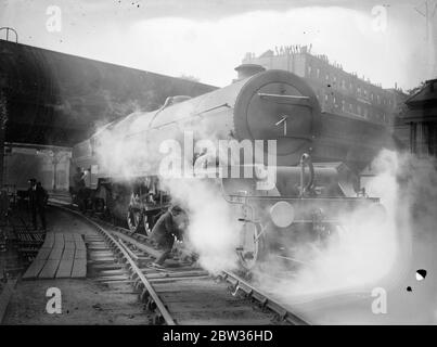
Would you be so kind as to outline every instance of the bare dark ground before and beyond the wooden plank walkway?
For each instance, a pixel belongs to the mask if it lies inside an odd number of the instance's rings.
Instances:
[[[48,210],[49,230],[93,234],[87,223],[56,209]],[[48,313],[47,290],[57,287],[62,313]],[[20,281],[3,324],[149,324],[150,317],[128,284],[104,285],[88,279]]]

